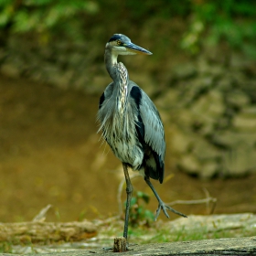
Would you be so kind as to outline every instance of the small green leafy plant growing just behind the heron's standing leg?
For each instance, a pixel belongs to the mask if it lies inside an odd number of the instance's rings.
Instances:
[[[146,205],[149,203],[149,199],[149,196],[141,191],[137,191],[135,197],[132,197],[129,223],[133,227],[149,227],[154,221],[153,212],[146,209]]]

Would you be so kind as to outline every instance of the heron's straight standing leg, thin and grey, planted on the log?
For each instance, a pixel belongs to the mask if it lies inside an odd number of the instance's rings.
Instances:
[[[126,194],[127,194],[123,237],[127,241],[129,213],[130,213],[131,199],[132,199],[132,195],[133,195],[133,186],[132,186],[132,183],[131,183],[131,180],[130,180],[127,165],[125,165],[125,164],[123,164],[123,173],[124,173],[125,181],[126,181]]]

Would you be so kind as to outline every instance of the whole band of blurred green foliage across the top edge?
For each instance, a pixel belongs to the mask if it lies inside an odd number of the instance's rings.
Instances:
[[[224,43],[256,59],[255,16],[254,0],[0,0],[0,28],[36,35],[42,43],[54,37],[84,41],[92,17],[94,27],[118,28],[118,23],[124,29],[144,28],[153,17],[169,19],[171,26],[179,17],[187,22],[181,47],[191,54],[202,45]]]

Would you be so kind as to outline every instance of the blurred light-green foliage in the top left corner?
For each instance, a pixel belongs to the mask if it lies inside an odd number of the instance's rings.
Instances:
[[[0,10],[0,27],[10,27],[13,33],[34,32],[47,40],[56,32],[79,38],[80,17],[96,13],[98,5],[90,0],[2,0]]]

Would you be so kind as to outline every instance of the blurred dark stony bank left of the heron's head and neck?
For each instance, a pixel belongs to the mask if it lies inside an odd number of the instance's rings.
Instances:
[[[100,44],[100,43],[99,43]],[[39,45],[35,40],[18,36],[9,37],[6,46],[0,46],[0,72],[9,77],[25,77],[40,83],[52,84],[61,89],[87,92],[102,91],[91,81],[105,75],[104,66],[99,65],[102,46],[86,43],[69,43],[56,40],[48,45]],[[97,69],[97,70],[95,70]]]

